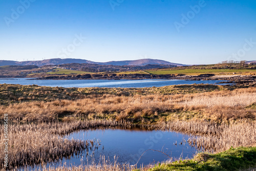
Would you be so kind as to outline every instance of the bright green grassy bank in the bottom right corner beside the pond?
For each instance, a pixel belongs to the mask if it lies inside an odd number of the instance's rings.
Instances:
[[[151,171],[164,170],[241,170],[256,167],[256,147],[230,148],[218,154],[200,153],[191,160],[180,160],[155,166]]]

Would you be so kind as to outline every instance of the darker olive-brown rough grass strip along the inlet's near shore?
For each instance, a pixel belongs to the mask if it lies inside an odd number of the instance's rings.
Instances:
[[[57,99],[76,100],[87,95],[112,94],[116,96],[133,96],[136,94],[193,94],[219,90],[232,90],[234,87],[211,84],[177,85],[153,88],[61,88],[23,86],[19,84],[0,84],[0,104],[20,103],[25,101],[53,101]]]

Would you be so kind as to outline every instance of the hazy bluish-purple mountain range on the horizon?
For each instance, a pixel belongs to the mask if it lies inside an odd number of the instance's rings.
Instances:
[[[113,66],[146,66],[146,65],[172,65],[172,66],[187,66],[181,63],[173,63],[159,59],[138,59],[138,60],[122,60],[122,61],[109,61],[109,62],[94,62],[85,59],[45,59],[36,61],[14,61],[14,60],[0,60],[0,66],[46,66],[46,65],[61,65],[66,63],[90,63],[97,65],[113,65]]]

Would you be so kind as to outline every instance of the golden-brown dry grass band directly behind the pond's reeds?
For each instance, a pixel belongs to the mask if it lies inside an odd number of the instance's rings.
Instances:
[[[256,118],[255,109],[246,108],[256,102],[256,88],[197,94],[102,96],[88,95],[78,100],[32,101],[0,105],[0,117],[25,121],[47,121],[66,115],[89,117],[112,115],[117,120],[141,121],[143,117],[159,117],[166,112],[203,113],[212,120]]]

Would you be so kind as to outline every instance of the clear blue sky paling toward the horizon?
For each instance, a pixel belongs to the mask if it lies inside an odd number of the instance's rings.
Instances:
[[[255,0],[0,0],[0,60],[256,60],[255,16]]]

